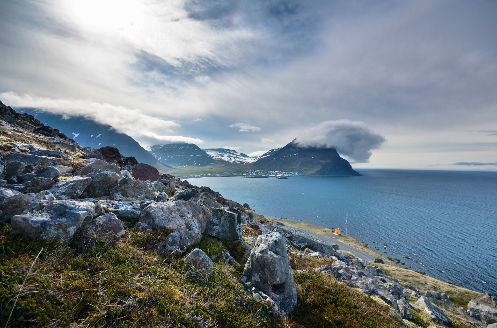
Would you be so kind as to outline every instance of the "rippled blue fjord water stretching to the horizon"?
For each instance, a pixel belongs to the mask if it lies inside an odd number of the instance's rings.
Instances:
[[[357,177],[188,180],[270,218],[344,232],[348,214],[349,235],[401,259],[402,267],[497,294],[497,172],[359,171]]]

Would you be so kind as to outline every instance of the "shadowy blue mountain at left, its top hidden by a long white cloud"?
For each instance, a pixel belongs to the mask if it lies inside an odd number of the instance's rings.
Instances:
[[[45,125],[59,129],[84,147],[100,148],[113,146],[123,156],[133,156],[140,163],[146,163],[163,172],[170,172],[170,167],[160,163],[132,137],[120,133],[110,125],[100,124],[83,116],[67,117],[33,108],[16,108],[17,112],[33,115]]]

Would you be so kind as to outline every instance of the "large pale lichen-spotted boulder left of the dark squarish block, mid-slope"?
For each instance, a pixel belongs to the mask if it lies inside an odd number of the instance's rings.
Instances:
[[[154,230],[167,227],[179,233],[179,246],[184,250],[202,238],[200,222],[205,222],[205,213],[192,201],[153,202],[143,209],[140,222]]]

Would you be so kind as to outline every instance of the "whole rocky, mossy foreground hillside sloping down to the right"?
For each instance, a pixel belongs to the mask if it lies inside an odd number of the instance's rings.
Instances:
[[[114,147],[82,147],[16,114],[0,108],[9,117],[0,121],[1,327],[497,322],[493,296],[411,285],[381,258],[362,261]]]

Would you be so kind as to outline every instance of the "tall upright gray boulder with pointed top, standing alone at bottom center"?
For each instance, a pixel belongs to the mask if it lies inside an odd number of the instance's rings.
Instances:
[[[288,261],[285,238],[272,232],[257,238],[244,269],[243,281],[268,295],[290,314],[297,304],[297,290]]]

